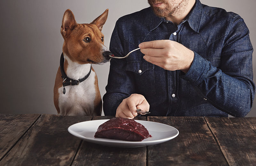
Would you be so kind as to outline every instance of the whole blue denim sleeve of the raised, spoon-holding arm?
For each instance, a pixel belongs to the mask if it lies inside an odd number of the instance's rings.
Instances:
[[[244,117],[250,112],[255,95],[252,52],[249,30],[237,15],[222,49],[220,69],[194,52],[191,68],[185,75],[180,71],[180,77],[190,82],[214,107],[232,116]]]

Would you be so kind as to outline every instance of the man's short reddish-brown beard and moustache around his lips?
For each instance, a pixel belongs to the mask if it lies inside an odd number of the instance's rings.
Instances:
[[[159,0],[148,0],[148,4],[153,9],[155,15],[162,18],[173,14],[179,14],[183,11],[182,7],[188,4],[188,0],[181,0],[179,4],[170,4],[167,0],[161,0],[161,2],[166,5],[164,8],[153,7],[153,4],[157,2],[159,2]]]

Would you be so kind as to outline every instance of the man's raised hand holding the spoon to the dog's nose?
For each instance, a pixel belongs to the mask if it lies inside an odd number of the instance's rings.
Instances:
[[[140,43],[143,58],[166,70],[187,73],[194,60],[194,52],[172,40],[154,40]]]

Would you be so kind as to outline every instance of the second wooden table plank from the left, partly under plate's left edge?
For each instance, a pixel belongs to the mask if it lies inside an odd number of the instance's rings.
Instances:
[[[42,115],[2,159],[7,165],[70,165],[81,140],[68,133],[70,125],[91,116]]]

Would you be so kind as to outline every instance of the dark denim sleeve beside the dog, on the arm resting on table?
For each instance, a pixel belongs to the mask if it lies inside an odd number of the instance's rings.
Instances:
[[[123,32],[122,26],[117,20],[109,45],[109,50],[115,56],[124,56],[125,54]],[[103,111],[106,116],[115,116],[116,109],[122,100],[135,93],[134,78],[125,69],[125,58],[110,60],[108,84],[106,94],[103,96]]]

